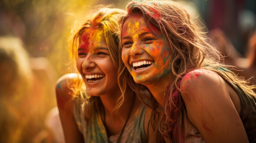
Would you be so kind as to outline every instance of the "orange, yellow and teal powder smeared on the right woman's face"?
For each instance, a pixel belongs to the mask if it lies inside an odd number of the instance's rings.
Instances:
[[[123,29],[123,32],[124,32],[123,37],[126,35],[130,35],[131,39],[135,41],[135,44],[130,48],[130,50],[132,50],[132,48],[138,47],[136,44],[137,44],[137,41],[141,42],[140,40],[142,40],[142,39],[139,39],[139,35],[141,35],[141,33],[153,33],[153,34],[147,34],[147,36],[155,35],[157,37],[164,37],[164,35],[162,35],[162,32],[156,26],[150,23],[146,23],[144,21],[144,18],[141,15],[132,16],[130,19],[128,19],[125,25],[127,26]],[[137,76],[137,74],[132,72],[133,71],[132,68],[130,68],[129,71],[131,71],[130,73],[132,74],[132,77],[134,77],[134,79],[136,80],[139,79],[140,82],[143,82],[146,80],[147,80],[146,82],[150,82],[150,80],[159,80],[162,76],[170,73],[170,69],[171,69],[170,47],[168,46],[168,44],[164,44],[164,42],[159,42],[159,41],[161,40],[153,40],[153,43],[143,45],[143,48],[145,49],[145,51],[150,53],[150,56],[154,57],[156,61],[162,61],[162,62],[159,62],[158,64],[154,64],[155,67],[151,69],[150,73],[154,73],[152,77],[154,79],[152,78],[148,79],[144,75]],[[124,48],[122,53],[126,53],[124,52],[125,50],[126,49]],[[140,49],[140,50],[143,50],[143,49]],[[141,53],[143,53],[143,51]],[[129,55],[128,53],[129,51],[127,51],[126,55],[123,54],[122,59],[128,59],[128,55]]]

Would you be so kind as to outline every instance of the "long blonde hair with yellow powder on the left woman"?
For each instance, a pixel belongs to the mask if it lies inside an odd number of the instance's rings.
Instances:
[[[130,73],[125,68],[124,63],[119,59],[118,20],[121,16],[126,14],[126,11],[113,7],[113,5],[97,5],[93,8],[93,11],[88,14],[88,20],[86,20],[86,22],[81,26],[81,28],[74,34],[74,37],[72,38],[70,45],[70,55],[75,65],[78,58],[77,49],[81,43],[82,34],[86,29],[97,28],[103,31],[112,61],[118,68],[117,82],[122,93],[118,100],[117,106],[115,107],[115,111],[118,111],[119,107],[124,102],[124,95],[126,91],[132,90],[133,95],[151,95],[151,93],[146,88],[146,86],[138,85],[133,81]],[[79,73],[77,69],[76,72]],[[74,95],[79,95],[79,99],[81,99],[83,102],[83,113],[85,115],[85,119],[89,121],[91,114],[95,114],[95,111],[103,111],[103,105],[99,97],[90,97],[86,94],[84,81],[81,78],[78,79],[79,80],[75,82],[76,84],[70,85],[70,88],[73,90]]]

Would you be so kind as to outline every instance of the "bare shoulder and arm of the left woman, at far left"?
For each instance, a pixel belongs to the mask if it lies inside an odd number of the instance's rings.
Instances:
[[[56,99],[66,143],[83,143],[83,135],[79,131],[74,118],[72,90],[67,81],[75,81],[77,74],[66,74],[56,83]],[[72,84],[72,83],[70,83]]]

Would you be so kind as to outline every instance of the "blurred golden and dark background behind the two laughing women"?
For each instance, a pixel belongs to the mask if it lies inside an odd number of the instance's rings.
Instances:
[[[176,1],[183,3],[191,15],[199,16],[211,42],[223,55],[229,55],[223,62],[244,70],[236,72],[245,78],[255,75],[255,0]],[[58,112],[55,82],[72,72],[68,53],[72,31],[81,26],[91,6],[115,4],[124,9],[125,3],[0,1],[0,143],[61,142],[48,129]]]

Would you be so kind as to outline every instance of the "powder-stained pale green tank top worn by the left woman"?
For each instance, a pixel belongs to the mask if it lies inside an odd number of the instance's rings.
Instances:
[[[85,143],[117,143],[119,134],[108,138],[106,128],[101,120],[100,114],[93,114],[90,123],[87,123],[83,116],[81,100],[74,99],[74,117],[80,132],[83,134]],[[144,131],[144,118],[146,106],[141,104],[134,117],[127,122],[120,143],[146,143],[148,139]]]

